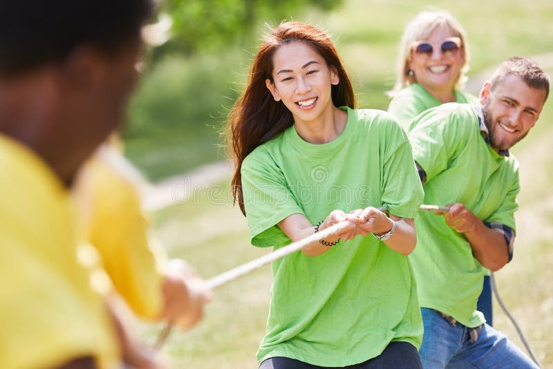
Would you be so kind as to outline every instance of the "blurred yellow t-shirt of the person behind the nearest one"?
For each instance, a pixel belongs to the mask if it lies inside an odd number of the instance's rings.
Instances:
[[[135,187],[95,155],[79,173],[74,193],[84,239],[100,253],[115,289],[135,314],[155,318],[162,308],[165,253],[148,242]]]

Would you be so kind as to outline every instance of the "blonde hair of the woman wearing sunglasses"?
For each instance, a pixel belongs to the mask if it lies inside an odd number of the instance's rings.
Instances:
[[[389,91],[388,95],[393,97],[397,91],[417,82],[415,76],[409,75],[411,46],[415,41],[427,39],[436,28],[440,27],[449,29],[452,36],[459,37],[461,40],[461,48],[463,48],[465,52],[465,63],[463,63],[461,67],[455,83],[455,88],[461,89],[465,85],[467,82],[467,72],[469,71],[470,60],[469,43],[467,41],[465,29],[462,28],[457,19],[453,18],[453,16],[445,10],[424,10],[411,19],[403,32],[400,42],[400,53],[397,57],[397,79],[392,91]]]

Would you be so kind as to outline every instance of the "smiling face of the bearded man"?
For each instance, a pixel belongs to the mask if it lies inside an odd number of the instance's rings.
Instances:
[[[480,92],[480,104],[484,106],[491,147],[507,150],[525,138],[538,120],[545,96],[545,90],[529,87],[517,75],[507,75],[493,90],[486,82]]]

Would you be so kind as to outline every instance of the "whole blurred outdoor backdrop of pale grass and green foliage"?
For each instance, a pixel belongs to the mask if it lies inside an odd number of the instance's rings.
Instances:
[[[171,0],[160,13],[171,38],[146,50],[140,87],[124,131],[126,155],[172,205],[151,214],[152,233],[174,257],[209,278],[261,256],[232,207],[224,126],[241,93],[264,24],[308,21],[326,29],[339,50],[362,108],[386,109],[406,23],[427,6],[448,10],[471,48],[467,90],[478,93],[500,61],[535,57],[553,73],[553,1]],[[553,103],[513,152],[521,163],[521,209],[514,260],[496,274],[500,296],[544,368],[553,367]],[[199,168],[199,169],[198,169]],[[180,187],[179,187],[180,186]],[[188,186],[188,187],[187,187]],[[189,191],[181,191],[182,189]],[[270,267],[214,291],[205,319],[174,332],[163,351],[174,368],[256,368],[265,332]],[[494,301],[494,326],[523,348]],[[139,323],[155,341],[160,325]],[[347,339],[345,337],[344,339]]]

